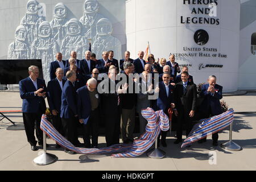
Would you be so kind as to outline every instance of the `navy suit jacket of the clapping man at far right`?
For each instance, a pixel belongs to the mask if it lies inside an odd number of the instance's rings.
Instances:
[[[207,90],[209,88],[209,84],[205,84],[202,86],[201,96],[204,97],[204,100],[199,108],[202,112],[208,112],[209,109],[212,111],[213,115],[218,115],[223,113],[221,109],[220,100],[222,98],[222,86],[215,85],[215,93],[212,96],[211,93],[208,93]]]

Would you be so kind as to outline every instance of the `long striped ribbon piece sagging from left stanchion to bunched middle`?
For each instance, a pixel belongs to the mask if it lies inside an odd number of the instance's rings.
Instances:
[[[152,146],[156,138],[160,134],[160,130],[167,131],[169,129],[169,119],[162,110],[154,111],[150,107],[142,110],[142,115],[147,119],[148,125],[146,132],[139,139],[135,139],[133,144],[114,144],[105,148],[79,148],[73,146],[65,137],[63,137],[49,121],[47,116],[42,115],[40,128],[48,135],[49,138],[55,140],[60,146],[79,154],[104,154],[112,152],[123,152],[112,155],[115,158],[121,157],[137,157],[147,151]]]

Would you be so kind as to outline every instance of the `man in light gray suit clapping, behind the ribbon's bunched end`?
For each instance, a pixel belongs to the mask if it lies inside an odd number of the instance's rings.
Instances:
[[[139,114],[139,133],[144,133],[146,126],[147,126],[147,120],[143,118],[141,114],[142,109],[147,109],[147,107],[150,107],[150,101],[148,100],[148,95],[152,92],[152,83],[149,80],[149,74],[148,72],[144,71],[142,72],[142,79],[138,83],[139,84],[139,93],[137,94],[137,112]]]

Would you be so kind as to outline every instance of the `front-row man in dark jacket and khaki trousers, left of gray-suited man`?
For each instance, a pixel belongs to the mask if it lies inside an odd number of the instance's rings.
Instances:
[[[121,135],[123,143],[133,143],[133,131],[135,126],[135,105],[137,94],[135,93],[135,82],[133,81],[133,63],[126,62],[123,65],[125,71],[125,84],[122,91],[119,92],[122,107]],[[133,85],[130,85],[133,83]],[[129,90],[129,86],[133,86],[133,90]]]

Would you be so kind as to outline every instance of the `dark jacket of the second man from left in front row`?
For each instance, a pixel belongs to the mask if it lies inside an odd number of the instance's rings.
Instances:
[[[62,79],[62,85],[64,87],[65,80]],[[48,90],[48,104],[49,104],[49,109],[52,111],[56,109],[58,113],[60,113],[60,108],[61,108],[61,94],[62,90],[60,88],[59,81],[57,78],[54,78],[53,80],[48,82],[47,85],[47,90]]]

